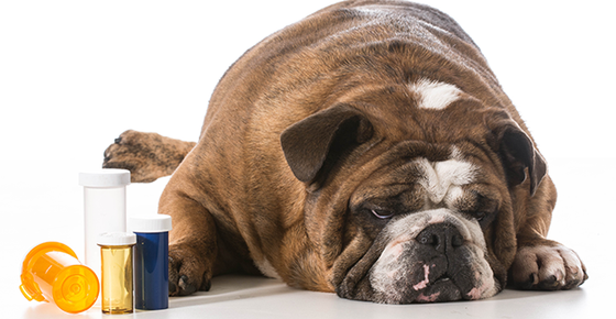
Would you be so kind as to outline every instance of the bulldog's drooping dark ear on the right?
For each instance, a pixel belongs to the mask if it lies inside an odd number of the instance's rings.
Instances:
[[[505,118],[503,113],[497,118],[499,119],[493,119],[491,124],[493,148],[503,161],[509,186],[524,183],[527,178],[525,169],[528,168],[530,196],[532,196],[547,174],[546,160],[537,151],[528,134],[514,120],[508,116]]]

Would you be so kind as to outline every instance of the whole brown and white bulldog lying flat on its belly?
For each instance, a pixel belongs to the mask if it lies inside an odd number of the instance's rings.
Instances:
[[[436,9],[345,1],[218,84],[197,143],[127,131],[105,167],[170,175],[169,295],[244,272],[385,304],[571,289],[544,158],[471,37]]]

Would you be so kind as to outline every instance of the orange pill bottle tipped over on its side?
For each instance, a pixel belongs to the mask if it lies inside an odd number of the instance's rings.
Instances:
[[[42,243],[28,253],[21,283],[21,293],[28,300],[51,301],[69,314],[88,310],[99,292],[95,272],[58,242]]]

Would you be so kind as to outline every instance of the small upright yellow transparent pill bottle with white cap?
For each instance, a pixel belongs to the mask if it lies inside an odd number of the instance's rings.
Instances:
[[[107,232],[98,238],[101,258],[101,309],[107,315],[133,312],[133,246],[135,235]]]

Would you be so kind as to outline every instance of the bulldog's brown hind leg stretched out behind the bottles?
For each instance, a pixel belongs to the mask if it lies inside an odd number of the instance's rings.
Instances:
[[[195,142],[129,130],[107,147],[102,167],[129,169],[131,182],[150,183],[172,175],[195,145]]]

